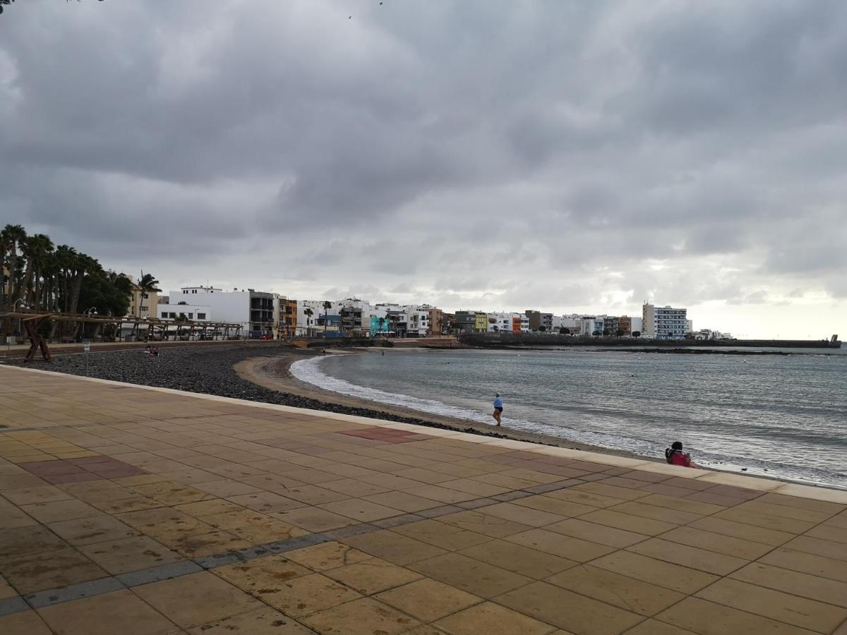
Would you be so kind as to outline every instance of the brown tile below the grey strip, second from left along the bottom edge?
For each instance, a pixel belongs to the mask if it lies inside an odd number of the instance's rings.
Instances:
[[[164,635],[176,630],[172,621],[130,591],[76,599],[38,613],[58,635]]]

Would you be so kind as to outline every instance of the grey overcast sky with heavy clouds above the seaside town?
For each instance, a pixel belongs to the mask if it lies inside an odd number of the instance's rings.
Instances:
[[[845,105],[839,0],[19,0],[0,224],[165,290],[847,337]]]

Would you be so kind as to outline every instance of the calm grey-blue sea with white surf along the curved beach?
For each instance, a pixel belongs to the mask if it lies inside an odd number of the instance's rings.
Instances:
[[[368,351],[296,362],[297,378],[386,404],[645,456],[681,440],[700,464],[847,489],[847,351],[791,356]],[[817,354],[815,354],[817,353]]]

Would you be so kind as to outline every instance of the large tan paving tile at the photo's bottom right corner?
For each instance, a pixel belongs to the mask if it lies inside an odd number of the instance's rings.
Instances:
[[[832,632],[847,620],[843,607],[729,578],[702,589],[697,597],[817,632]]]

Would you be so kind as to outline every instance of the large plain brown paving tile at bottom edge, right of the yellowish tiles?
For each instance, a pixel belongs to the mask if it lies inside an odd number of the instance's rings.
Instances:
[[[579,635],[617,635],[644,620],[631,611],[543,582],[515,589],[495,601]]]

